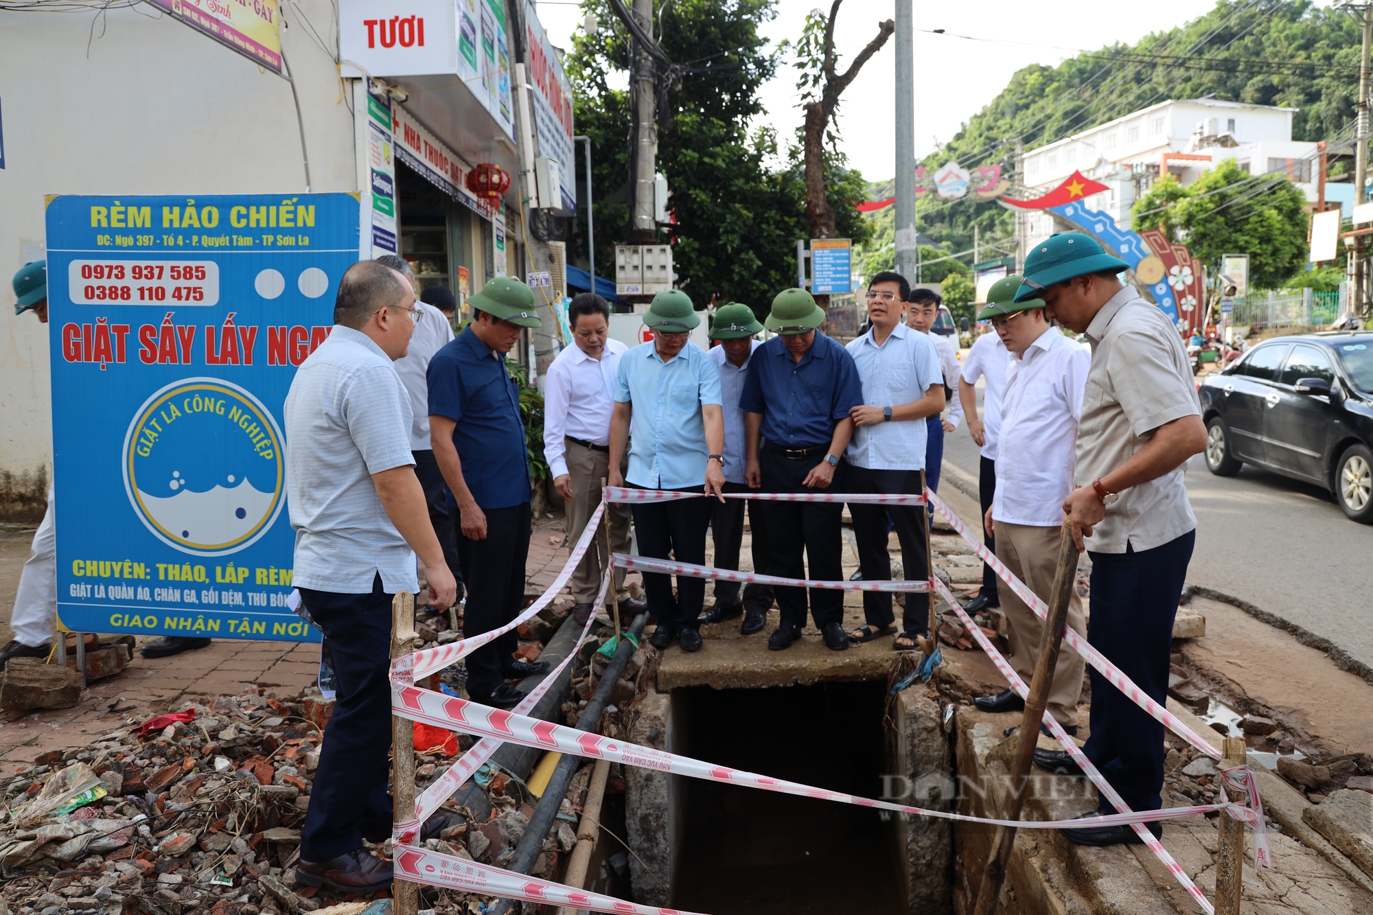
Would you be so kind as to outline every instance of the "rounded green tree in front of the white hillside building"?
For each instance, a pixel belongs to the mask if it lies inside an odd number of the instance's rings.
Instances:
[[[1164,199],[1171,206],[1160,210]],[[1184,188],[1159,181],[1135,202],[1134,217],[1141,229],[1167,220],[1212,278],[1223,254],[1249,254],[1255,289],[1278,289],[1306,264],[1306,196],[1281,174],[1251,177],[1234,159]]]

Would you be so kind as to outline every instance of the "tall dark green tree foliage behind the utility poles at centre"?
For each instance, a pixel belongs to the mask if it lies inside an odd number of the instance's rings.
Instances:
[[[592,137],[596,262],[607,276],[633,203],[632,104],[627,91],[610,85],[614,71],[629,67],[629,36],[604,0],[582,5],[601,27],[593,37],[573,38],[564,66],[577,132]],[[663,7],[655,25],[665,54],[696,69],[659,93],[658,168],[673,191],[678,284],[697,308],[714,297],[766,315],[773,295],[795,284],[796,239],[809,238],[799,150],[780,148],[773,133],[748,135],[744,126],[762,110],[759,84],[777,67],[777,55],[765,52],[758,33],[772,16],[773,0],[677,0]],[[799,124],[799,109],[796,118]],[[827,157],[825,169],[839,235],[866,239],[868,225],[855,209],[866,190],[862,176],[846,169],[838,154]],[[579,173],[578,184],[584,181]],[[582,265],[585,225],[579,216],[568,238]]]

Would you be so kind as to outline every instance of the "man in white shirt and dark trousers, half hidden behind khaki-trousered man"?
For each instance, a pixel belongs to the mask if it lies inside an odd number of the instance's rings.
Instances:
[[[1013,282],[1012,282],[1013,280]],[[987,290],[987,304],[1009,302],[1020,289],[1020,278],[1006,278],[998,280]],[[986,309],[983,309],[986,310]],[[980,317],[979,317],[980,320]],[[968,416],[968,433],[982,448],[982,460],[978,468],[978,497],[982,503],[982,514],[991,508],[991,499],[997,492],[997,434],[1001,430],[1001,387],[1006,376],[1006,363],[1011,353],[1001,342],[1001,335],[989,331],[972,342],[962,368],[958,372],[958,400],[962,403],[964,414]],[[986,379],[982,392],[982,407],[986,411],[984,419],[978,419],[978,379]],[[982,534],[987,550],[997,551],[997,539],[989,532]],[[967,607],[968,614],[978,613],[987,607],[1000,607],[1001,599],[997,594],[997,573],[991,566],[982,563],[982,589]]]

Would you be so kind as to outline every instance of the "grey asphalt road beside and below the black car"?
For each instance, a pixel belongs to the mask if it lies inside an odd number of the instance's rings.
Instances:
[[[978,445],[962,426],[945,437],[945,463],[978,478]],[[1373,526],[1346,518],[1319,486],[1249,466],[1216,477],[1197,455],[1186,484],[1197,517],[1188,583],[1247,600],[1373,666]]]

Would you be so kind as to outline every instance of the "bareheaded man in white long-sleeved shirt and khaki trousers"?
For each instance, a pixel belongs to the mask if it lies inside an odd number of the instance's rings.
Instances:
[[[610,339],[610,306],[595,293],[582,293],[567,306],[573,343],[548,367],[544,382],[544,458],[553,488],[567,506],[567,539],[577,543],[601,500],[601,479],[610,477],[610,418],[615,412],[615,371],[629,348]],[[623,473],[623,468],[622,468]],[[611,548],[629,552],[629,506],[607,506]],[[586,622],[604,574],[605,536],[597,533],[573,573],[574,613]],[[641,600],[625,591],[623,570],[615,573],[621,609],[638,611]]]

